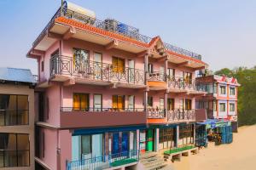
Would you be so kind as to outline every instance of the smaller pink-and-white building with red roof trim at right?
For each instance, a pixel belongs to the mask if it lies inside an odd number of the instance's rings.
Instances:
[[[195,108],[206,109],[207,118],[229,120],[236,131],[237,95],[240,86],[236,78],[211,75],[197,77],[196,83],[207,95],[196,98]]]

